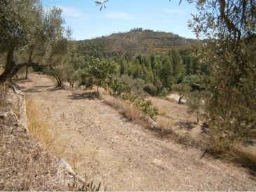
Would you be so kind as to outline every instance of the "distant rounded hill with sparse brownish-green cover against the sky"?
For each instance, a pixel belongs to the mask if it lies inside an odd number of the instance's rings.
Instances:
[[[196,43],[196,39],[186,39],[168,32],[154,32],[141,28],[126,33],[116,33],[100,38],[77,41],[79,52],[84,55],[95,54],[98,57],[116,53],[168,53],[172,48],[187,48]]]

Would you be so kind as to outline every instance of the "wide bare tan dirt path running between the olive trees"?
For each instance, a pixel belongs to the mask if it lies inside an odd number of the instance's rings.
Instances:
[[[81,176],[113,191],[255,191],[249,170],[206,157],[202,151],[156,137],[126,121],[112,107],[77,90],[55,89],[48,77],[30,74],[19,83],[41,102],[55,141]],[[80,92],[81,93],[81,92]]]

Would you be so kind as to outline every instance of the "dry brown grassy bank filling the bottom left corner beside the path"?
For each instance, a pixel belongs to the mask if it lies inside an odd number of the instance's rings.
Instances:
[[[8,107],[9,115],[0,119],[0,191],[67,191],[72,178],[27,134],[12,108],[17,107]]]

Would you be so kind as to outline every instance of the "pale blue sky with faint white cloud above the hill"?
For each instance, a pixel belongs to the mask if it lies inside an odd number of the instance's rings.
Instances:
[[[107,8],[93,0],[42,0],[43,6],[62,8],[66,25],[72,27],[76,40],[92,39],[114,32],[128,32],[134,27],[173,32],[187,38],[196,36],[187,27],[196,8],[180,0],[109,0]]]

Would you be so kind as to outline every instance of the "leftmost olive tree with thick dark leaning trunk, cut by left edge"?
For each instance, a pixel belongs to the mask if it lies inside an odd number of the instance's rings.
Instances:
[[[11,79],[17,71],[27,65],[13,60],[15,51],[26,50],[33,41],[36,20],[41,14],[41,3],[37,0],[0,1],[0,53],[6,54],[6,64],[0,81]]]

